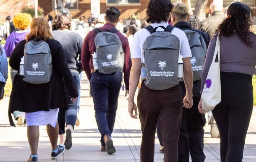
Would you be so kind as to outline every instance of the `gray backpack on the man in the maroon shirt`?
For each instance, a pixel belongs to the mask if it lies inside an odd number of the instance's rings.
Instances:
[[[122,42],[114,34],[117,31],[115,28],[106,32],[102,32],[99,28],[95,29],[95,32],[98,33],[94,41],[99,73],[111,74],[124,67],[125,56]]]

